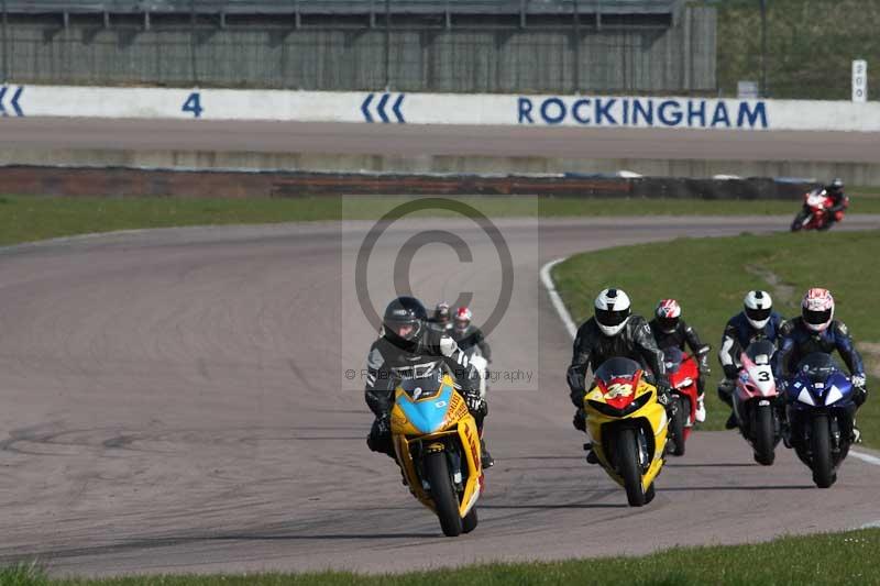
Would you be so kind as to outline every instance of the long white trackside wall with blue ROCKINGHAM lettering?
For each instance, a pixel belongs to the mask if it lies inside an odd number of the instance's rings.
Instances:
[[[880,102],[4,86],[7,115],[880,131]]]

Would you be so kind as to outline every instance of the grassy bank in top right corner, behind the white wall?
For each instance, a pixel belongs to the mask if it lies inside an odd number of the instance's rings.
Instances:
[[[718,7],[718,88],[725,96],[736,96],[738,80],[761,78],[760,2],[710,2]],[[877,22],[880,0],[768,1],[769,96],[849,100],[853,59],[867,59],[869,68],[877,63]],[[869,75],[868,86],[868,96],[878,96],[880,77]]]

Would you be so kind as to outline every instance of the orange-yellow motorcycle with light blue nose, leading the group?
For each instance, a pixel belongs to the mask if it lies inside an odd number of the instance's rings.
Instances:
[[[397,463],[410,493],[437,513],[443,534],[470,533],[484,487],[476,421],[440,363],[416,375],[395,389]]]

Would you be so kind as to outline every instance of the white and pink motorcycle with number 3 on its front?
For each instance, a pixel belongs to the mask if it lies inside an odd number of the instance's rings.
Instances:
[[[734,413],[743,438],[755,450],[755,461],[769,466],[781,439],[777,391],[771,367],[776,346],[768,340],[752,342],[739,361],[743,364],[734,391]],[[781,407],[781,406],[779,406]]]

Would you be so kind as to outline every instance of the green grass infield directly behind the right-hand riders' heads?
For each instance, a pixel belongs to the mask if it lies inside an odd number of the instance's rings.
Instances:
[[[866,280],[877,270],[880,232],[743,234],[725,239],[679,239],[669,243],[625,246],[579,254],[554,268],[560,295],[579,323],[593,312],[604,287],[626,290],[634,311],[650,318],[661,298],[682,305],[684,319],[713,345],[713,374],[706,386],[708,418],[703,429],[723,429],[729,409],[715,387],[721,366],[717,350],[727,320],[741,310],[749,289],[766,289],[785,317],[800,313],[810,287],[827,287],[837,301],[837,317],[858,342],[880,342],[877,291]],[[862,352],[877,373],[880,355]],[[869,387],[878,383],[877,376]],[[872,400],[871,400],[872,399]],[[872,397],[859,410],[865,442],[880,447],[880,401]]]

